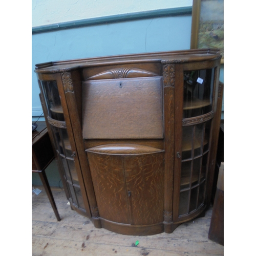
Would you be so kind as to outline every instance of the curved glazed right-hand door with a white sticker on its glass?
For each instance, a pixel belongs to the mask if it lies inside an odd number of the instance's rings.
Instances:
[[[195,218],[206,207],[219,72],[215,62],[205,66],[177,67],[174,222]]]

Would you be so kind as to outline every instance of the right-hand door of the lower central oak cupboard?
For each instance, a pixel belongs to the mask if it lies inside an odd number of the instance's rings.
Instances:
[[[163,221],[164,153],[123,156],[132,225]]]

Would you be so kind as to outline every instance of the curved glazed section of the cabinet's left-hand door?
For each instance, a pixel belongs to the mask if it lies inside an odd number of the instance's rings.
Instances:
[[[72,135],[68,134],[67,123],[61,105],[57,80],[38,80],[41,90],[41,102],[44,108],[53,144],[58,158],[63,186],[72,208],[91,217],[84,185],[79,181],[76,149]],[[81,179],[82,180],[82,179]]]

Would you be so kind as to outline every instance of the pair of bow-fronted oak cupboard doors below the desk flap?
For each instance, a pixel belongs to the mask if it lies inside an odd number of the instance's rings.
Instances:
[[[101,218],[131,225],[163,221],[163,152],[87,154]]]

